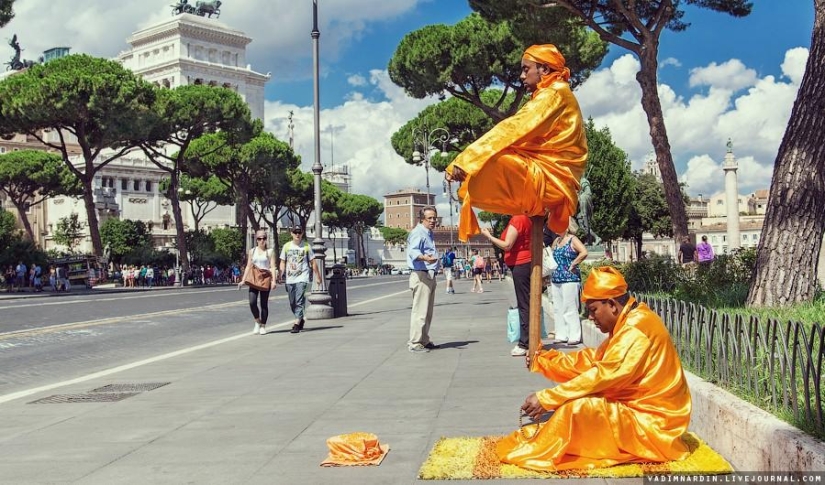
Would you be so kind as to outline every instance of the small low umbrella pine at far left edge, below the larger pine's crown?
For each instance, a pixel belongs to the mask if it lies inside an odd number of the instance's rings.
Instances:
[[[50,198],[83,194],[83,186],[54,153],[19,150],[0,155],[0,191],[14,204],[29,239],[37,244],[27,208]]]

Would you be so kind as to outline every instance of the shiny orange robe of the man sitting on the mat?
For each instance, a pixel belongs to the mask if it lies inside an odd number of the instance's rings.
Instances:
[[[554,413],[532,439],[516,431],[500,441],[502,462],[556,471],[687,457],[691,402],[679,356],[659,317],[633,303],[598,349],[538,354],[531,371],[560,383],[536,393]]]

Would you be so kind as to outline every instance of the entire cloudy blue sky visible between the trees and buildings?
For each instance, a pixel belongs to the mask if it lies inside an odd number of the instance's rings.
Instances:
[[[17,18],[2,34],[18,34],[28,58],[56,45],[114,58],[128,48],[126,39],[133,32],[167,21],[170,3],[18,0]],[[287,117],[293,112],[295,150],[309,169],[314,158],[312,2],[223,3],[218,21],[249,35],[253,41],[247,62],[255,71],[272,73],[266,88],[266,128],[285,140]],[[742,19],[688,7],[685,20],[692,25],[684,32],[665,31],[661,38],[659,97],[676,171],[692,195],[722,190],[728,138],[740,165],[740,193],[770,185],[807,61],[813,2],[754,3],[753,13]],[[352,190],[379,200],[400,188],[424,188],[425,171],[404,163],[392,150],[390,137],[437,99],[407,96],[389,80],[387,64],[405,34],[459,21],[470,13],[467,2],[319,0],[319,11],[321,162],[329,168],[346,165]],[[634,168],[642,167],[652,151],[635,80],[638,69],[635,57],[612,46],[602,65],[576,90],[584,116],[610,129]],[[431,173],[430,179],[433,186],[440,185],[441,175]],[[446,211],[446,201],[439,204]]]

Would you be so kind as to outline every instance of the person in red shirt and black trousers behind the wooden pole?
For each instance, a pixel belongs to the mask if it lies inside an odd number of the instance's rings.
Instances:
[[[510,355],[520,357],[527,355],[530,348],[530,231],[533,223],[524,214],[510,218],[510,223],[501,233],[501,239],[493,236],[486,227],[481,228],[491,243],[504,250],[504,262],[513,272],[513,285],[516,287],[519,323],[521,333],[518,344]]]

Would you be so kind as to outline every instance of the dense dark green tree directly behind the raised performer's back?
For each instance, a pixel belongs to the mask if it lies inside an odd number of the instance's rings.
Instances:
[[[598,130],[590,119],[585,130],[586,176],[593,200],[590,228],[607,245],[625,233],[632,208],[628,201],[633,199],[636,179],[627,153],[614,144],[607,127]]]

